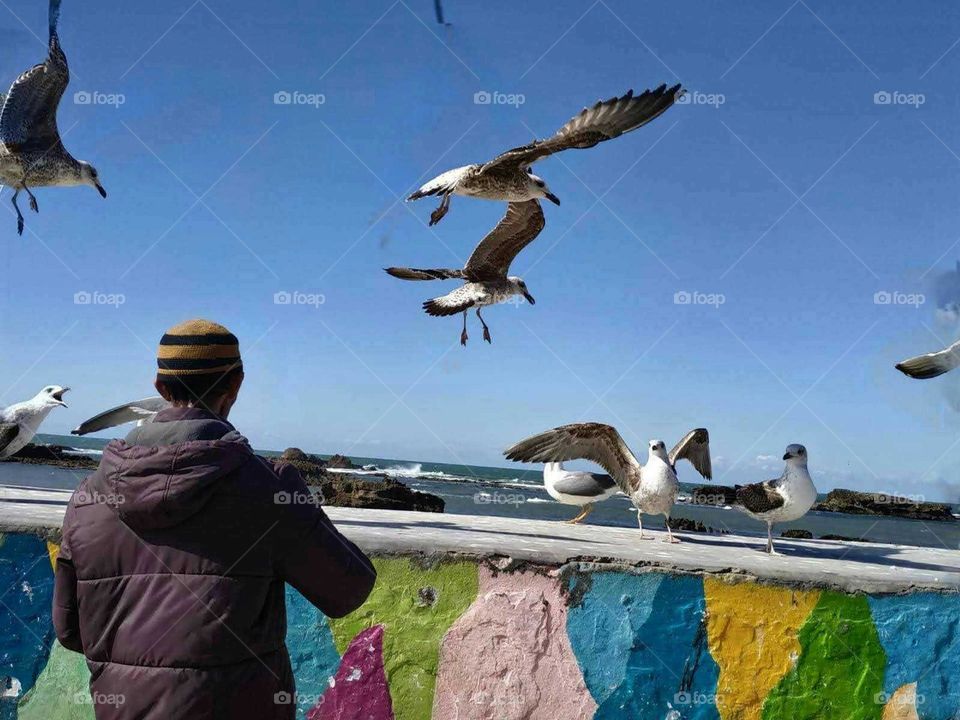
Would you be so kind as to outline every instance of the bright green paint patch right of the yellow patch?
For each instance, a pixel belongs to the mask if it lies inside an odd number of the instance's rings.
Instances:
[[[824,592],[797,638],[796,667],[770,691],[764,720],[879,720],[886,656],[867,599]]]

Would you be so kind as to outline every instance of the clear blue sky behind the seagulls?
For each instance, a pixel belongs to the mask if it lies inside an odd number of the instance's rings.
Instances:
[[[232,419],[259,447],[499,465],[565,422],[638,452],[704,425],[725,483],[802,442],[821,489],[958,500],[960,379],[893,364],[958,334],[933,283],[960,258],[960,7],[444,4],[451,27],[427,0],[67,0],[59,124],[110,195],[39,190],[22,238],[0,195],[0,403],[70,385],[65,432],[150,394],[164,328],[206,316],[241,338]],[[5,0],[4,83],[45,27]],[[488,310],[492,346],[421,312],[450,284],[381,271],[457,266],[502,214],[454,198],[428,229],[432,200],[398,202],[419,182],[678,81],[692,102],[536,166],[563,204],[514,265],[537,305]]]

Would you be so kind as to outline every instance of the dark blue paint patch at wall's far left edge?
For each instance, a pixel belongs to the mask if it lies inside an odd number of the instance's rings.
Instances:
[[[53,568],[47,543],[36,535],[4,535],[0,543],[0,694],[19,683],[22,697],[47,664],[55,637],[52,604]]]

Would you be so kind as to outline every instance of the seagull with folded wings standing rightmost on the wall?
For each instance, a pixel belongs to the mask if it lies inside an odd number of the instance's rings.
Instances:
[[[736,507],[767,524],[767,552],[771,555],[777,554],[773,549],[773,524],[802,518],[817,501],[817,488],[807,470],[807,449],[787,445],[783,459],[786,466],[776,480],[736,488]]]

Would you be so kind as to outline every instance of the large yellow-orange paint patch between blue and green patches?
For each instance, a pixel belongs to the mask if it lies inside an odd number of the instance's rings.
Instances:
[[[710,654],[720,667],[720,717],[760,720],[767,694],[796,665],[797,633],[820,593],[713,578],[704,580],[703,592]]]

